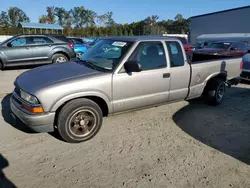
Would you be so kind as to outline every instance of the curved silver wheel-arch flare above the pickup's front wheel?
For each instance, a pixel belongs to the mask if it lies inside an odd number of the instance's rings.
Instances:
[[[89,97],[89,96],[102,98],[108,106],[109,113],[113,113],[113,107],[112,107],[109,97],[105,95],[104,93],[101,93],[98,91],[78,92],[78,93],[72,93],[67,96],[64,96],[63,98],[59,99],[52,105],[52,107],[50,108],[50,111],[55,112],[60,106],[62,106],[67,101],[70,101],[72,99]]]

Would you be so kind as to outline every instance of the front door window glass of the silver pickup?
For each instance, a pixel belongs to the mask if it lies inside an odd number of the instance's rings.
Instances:
[[[141,42],[129,60],[137,61],[141,64],[142,71],[167,66],[166,56],[161,42]]]

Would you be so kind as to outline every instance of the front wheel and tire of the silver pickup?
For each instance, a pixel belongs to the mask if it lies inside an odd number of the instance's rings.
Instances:
[[[102,121],[103,114],[99,105],[89,99],[75,99],[61,109],[57,129],[66,142],[83,142],[99,132]]]

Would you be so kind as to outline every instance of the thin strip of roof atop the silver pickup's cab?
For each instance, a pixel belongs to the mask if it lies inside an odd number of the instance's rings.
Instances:
[[[175,37],[166,37],[166,36],[116,36],[116,37],[101,37],[101,39],[110,39],[110,40],[119,40],[119,41],[151,41],[151,40],[166,40],[173,39]],[[176,38],[176,40],[179,40]]]

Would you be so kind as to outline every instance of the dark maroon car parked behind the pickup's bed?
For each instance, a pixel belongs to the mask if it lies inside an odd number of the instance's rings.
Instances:
[[[200,61],[224,57],[242,57],[248,50],[250,50],[250,45],[244,42],[212,42],[202,49],[194,50],[192,58],[193,61]]]

